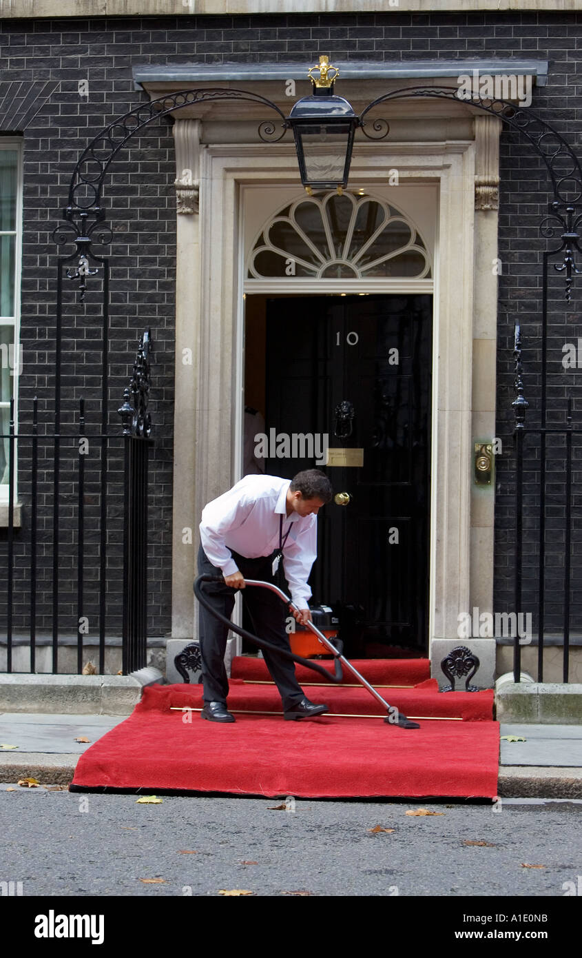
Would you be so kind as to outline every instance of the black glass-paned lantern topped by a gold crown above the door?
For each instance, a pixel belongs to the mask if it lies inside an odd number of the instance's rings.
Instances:
[[[317,73],[318,76],[314,76]],[[341,192],[347,187],[353,135],[359,119],[343,97],[333,95],[339,71],[327,57],[309,69],[313,94],[299,100],[289,114],[302,184],[312,189]]]

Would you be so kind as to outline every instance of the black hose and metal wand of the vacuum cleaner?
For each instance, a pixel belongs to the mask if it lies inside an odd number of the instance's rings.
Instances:
[[[374,696],[374,698],[380,702],[383,708],[386,709],[386,718],[384,719],[390,725],[398,725],[400,728],[420,728],[418,722],[407,719],[397,708],[390,705],[376,690],[369,684],[369,682],[361,675],[357,669],[355,669],[351,662],[347,661],[347,658],[342,654],[342,649],[337,648],[333,643],[324,635],[323,632],[317,626],[314,626],[312,622],[307,622],[307,627],[311,629],[312,632],[317,636],[318,640],[321,642],[325,649],[328,652],[331,652],[334,659],[334,671],[330,673],[324,666],[319,665],[317,662],[314,662],[313,659],[302,658],[301,655],[296,655],[291,650],[283,650],[278,646],[272,645],[270,642],[265,642],[264,639],[259,639],[257,635],[253,635],[252,632],[247,631],[246,628],[241,628],[235,626],[235,623],[231,622],[226,615],[222,615],[221,612],[217,612],[213,608],[213,605],[209,602],[208,597],[204,594],[204,589],[202,588],[203,582],[223,582],[222,576],[212,576],[208,573],[198,578],[194,582],[194,595],[201,605],[213,615],[215,619],[218,619],[219,622],[222,622],[223,625],[228,626],[234,632],[237,632],[238,635],[242,635],[243,638],[248,639],[249,642],[252,642],[254,645],[258,646],[259,649],[266,649],[271,652],[275,652],[277,655],[282,655],[284,658],[292,659],[294,662],[299,662],[300,665],[306,666],[308,669],[311,669],[313,672],[318,672],[323,675],[327,681],[339,683],[344,677],[343,668],[345,667],[348,672],[352,673],[355,678],[364,686],[365,689],[368,689],[369,694]],[[288,605],[291,610],[299,611],[297,605],[293,604],[289,596],[279,588],[278,585],[275,585],[273,582],[260,582],[256,579],[245,579],[245,585],[257,586],[259,588],[269,589],[271,592],[275,592],[279,596],[281,602]]]

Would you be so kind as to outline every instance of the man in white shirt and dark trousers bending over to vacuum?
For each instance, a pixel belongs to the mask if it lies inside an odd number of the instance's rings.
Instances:
[[[230,618],[236,589],[245,579],[277,582],[280,563],[297,608],[293,615],[305,625],[311,620],[307,579],[317,557],[317,513],[331,499],[331,483],[320,469],[305,469],[292,480],[279,476],[247,475],[205,507],[200,523],[198,573],[216,576],[206,595],[216,611]],[[245,592],[255,630],[260,638],[289,650],[285,606],[267,589]],[[224,665],[228,627],[200,606],[200,652],[204,708],[202,718],[233,722],[227,710],[229,682]],[[264,659],[280,691],[285,719],[308,719],[327,712],[327,706],[303,695],[295,665],[264,650]]]

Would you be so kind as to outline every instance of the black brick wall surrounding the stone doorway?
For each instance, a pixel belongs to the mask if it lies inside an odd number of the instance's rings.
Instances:
[[[2,80],[58,80],[49,103],[25,131],[25,210],[22,273],[22,341],[24,372],[20,381],[20,422],[29,422],[32,397],[40,399],[42,419],[51,428],[50,386],[54,379],[55,247],[50,233],[66,201],[67,186],[82,148],[114,115],[121,115],[144,99],[133,89],[131,67],[144,63],[288,62],[311,64],[320,52],[336,61],[347,59],[393,60],[435,57],[537,57],[548,58],[548,86],[534,90],[532,110],[570,137],[574,148],[582,142],[582,100],[576,77],[580,67],[582,13],[409,14],[387,12],[369,15],[292,16],[184,16],[161,18],[103,18],[0,21]],[[78,95],[78,81],[89,81],[88,99]],[[495,609],[513,608],[513,492],[515,463],[511,429],[513,399],[513,324],[520,319],[524,334],[526,399],[529,422],[536,421],[540,396],[541,253],[539,220],[547,209],[548,177],[543,163],[526,141],[505,131],[502,138],[502,189],[500,209],[500,321],[498,350],[498,427],[504,442],[497,461]],[[105,200],[115,231],[111,283],[111,384],[109,420],[117,427],[117,407],[131,371],[137,341],[146,325],[154,338],[151,408],[156,445],[151,471],[150,496],[151,602],[150,634],[168,632],[170,607],[170,522],[172,484],[172,423],[174,366],[174,254],[175,200],[173,196],[173,145],[168,124],[151,125],[136,137],[115,162]],[[526,205],[524,205],[526,203]],[[483,265],[484,268],[484,265]],[[93,281],[95,283],[95,281]],[[78,396],[87,398],[87,421],[96,422],[101,384],[101,331],[98,285],[92,285],[84,308],[73,309],[73,291],[66,294],[63,353],[63,416],[71,421]],[[582,372],[565,373],[562,345],[582,336],[576,303],[566,308],[563,281],[550,278],[549,297],[549,402],[555,422],[563,422],[568,387],[574,397],[574,422],[581,412]],[[63,344],[64,345],[64,344]],[[49,388],[47,388],[49,387]],[[112,445],[111,470],[119,477],[121,446]],[[550,491],[552,531],[548,549],[548,582],[561,581],[564,562],[564,470],[561,453],[553,454]],[[580,448],[575,451],[574,515],[580,518]],[[528,457],[526,472],[526,601],[535,602],[535,454]],[[48,468],[48,467],[47,467]],[[72,465],[67,467],[71,472]],[[91,472],[95,463],[87,463]],[[67,475],[71,484],[74,475]],[[21,498],[29,500],[28,464],[20,461]],[[70,486],[73,489],[72,485]],[[50,490],[43,487],[43,523],[47,555],[40,559],[44,587],[38,588],[39,624],[49,625],[51,593]],[[96,496],[97,492],[93,491]],[[98,499],[89,498],[87,512],[96,511]],[[122,497],[119,485],[108,496],[112,552],[108,588],[120,590]],[[76,506],[63,506],[74,541]],[[16,534],[16,612],[14,625],[26,628],[27,542],[25,526]],[[579,523],[576,523],[579,525]],[[5,539],[5,534],[0,534]],[[94,550],[97,546],[93,543]],[[89,547],[88,547],[89,548]],[[582,544],[575,544],[580,561]],[[63,567],[74,576],[73,546]],[[115,553],[115,555],[114,555]],[[67,564],[68,563],[68,564]],[[575,570],[580,582],[579,566]],[[63,617],[73,614],[74,591],[63,598]],[[555,627],[559,626],[556,602]],[[114,604],[111,604],[114,607]],[[579,613],[576,607],[576,615]],[[535,619],[535,617],[534,617]],[[110,631],[119,626],[113,617]]]

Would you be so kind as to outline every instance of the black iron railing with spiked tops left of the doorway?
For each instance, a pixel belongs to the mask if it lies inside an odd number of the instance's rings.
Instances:
[[[52,624],[51,671],[59,671],[59,651],[63,637],[77,636],[77,672],[83,669],[86,646],[99,647],[98,673],[105,671],[106,638],[116,633],[122,623],[123,674],[146,665],[147,610],[147,466],[151,420],[147,410],[150,386],[151,335],[147,330],[134,364],[133,376],[124,391],[119,413],[123,431],[110,428],[102,432],[97,424],[85,422],[85,399],[78,399],[77,422],[60,425],[60,429],[39,431],[38,398],[33,399],[31,431],[16,430],[14,401],[11,400],[9,440],[9,499],[6,534],[6,672],[13,671],[15,639],[18,646],[30,644],[30,672],[36,671],[38,604],[42,604],[42,621]],[[46,426],[46,423],[44,423]],[[95,456],[95,449],[99,455]],[[28,471],[30,486],[24,515],[26,542],[17,541],[25,530],[16,531],[14,523],[14,476],[16,460],[21,475]],[[87,460],[91,466],[86,465]],[[123,463],[123,475],[112,482],[107,475],[110,462]],[[56,463],[56,467],[55,467]],[[48,482],[39,479],[46,464]],[[25,470],[25,466],[28,467]],[[67,478],[66,489],[62,475]],[[73,491],[68,491],[73,486]],[[96,490],[95,487],[98,487]],[[115,488],[115,487],[119,488]],[[121,526],[109,521],[107,502],[123,496],[123,541]],[[20,497],[20,496],[19,496]],[[40,505],[46,500],[48,508]],[[90,514],[87,516],[87,502]],[[67,514],[63,524],[63,512]],[[49,517],[52,513],[52,528]],[[101,521],[100,521],[101,520]],[[17,545],[20,546],[17,549]],[[98,546],[96,549],[95,546]],[[91,548],[89,548],[91,546]],[[112,563],[119,561],[123,547],[123,595],[112,594]],[[50,563],[50,565],[48,564]],[[74,565],[77,564],[75,576]],[[47,583],[52,567],[50,583]],[[39,573],[42,576],[39,576]],[[119,577],[118,577],[119,578]],[[74,594],[76,584],[76,595]],[[15,585],[17,595],[15,597]],[[39,589],[44,588],[40,593]],[[52,608],[47,607],[50,592]],[[23,596],[28,593],[28,608]],[[14,600],[17,598],[19,627],[14,628]],[[109,624],[111,624],[109,626]],[[16,634],[17,631],[17,634]],[[44,645],[44,643],[43,643]],[[18,672],[28,671],[22,668]],[[45,671],[45,670],[43,670]]]

